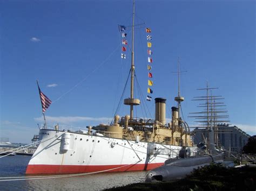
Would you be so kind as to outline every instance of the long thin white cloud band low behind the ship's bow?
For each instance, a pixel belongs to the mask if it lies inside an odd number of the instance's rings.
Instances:
[[[36,122],[43,122],[44,118],[43,116],[41,117],[36,117],[34,118]],[[108,118],[108,117],[99,117],[99,118],[95,118],[95,117],[63,117],[63,116],[59,116],[59,117],[51,117],[51,116],[45,116],[46,122],[50,122],[50,123],[63,123],[63,124],[70,124],[71,122],[75,123],[75,122],[85,122],[85,121],[94,121],[94,122],[101,122],[101,123],[107,123],[109,121],[112,121],[112,118]]]

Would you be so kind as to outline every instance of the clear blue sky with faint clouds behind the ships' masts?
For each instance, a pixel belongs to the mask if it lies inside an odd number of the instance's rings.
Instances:
[[[164,97],[166,118],[176,106],[180,58],[184,119],[191,126],[206,83],[218,87],[230,124],[256,135],[255,1],[136,1],[134,65],[146,103],[134,116],[154,117],[154,98]],[[121,58],[126,26],[126,59]],[[36,80],[52,100],[48,128],[86,129],[110,123],[131,66],[132,1],[0,1],[0,137],[30,143],[42,127]],[[153,94],[147,94],[150,27]],[[139,87],[139,88],[138,88]],[[139,96],[141,95],[141,96]],[[130,80],[123,98],[130,96]],[[123,103],[123,101],[121,101]],[[200,102],[201,103],[201,102]],[[150,112],[145,112],[143,108]],[[130,114],[122,104],[118,115]],[[37,125],[38,124],[38,125]]]

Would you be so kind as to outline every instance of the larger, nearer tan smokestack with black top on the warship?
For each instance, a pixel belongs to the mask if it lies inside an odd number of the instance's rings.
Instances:
[[[155,120],[159,121],[161,124],[165,125],[166,124],[166,119],[165,119],[165,98],[155,98],[154,101],[156,102],[156,117]]]

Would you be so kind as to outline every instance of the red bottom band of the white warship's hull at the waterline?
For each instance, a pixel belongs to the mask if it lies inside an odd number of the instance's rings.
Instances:
[[[28,165],[26,174],[76,174],[89,172],[127,172],[147,171],[164,165],[164,163],[135,165]]]

